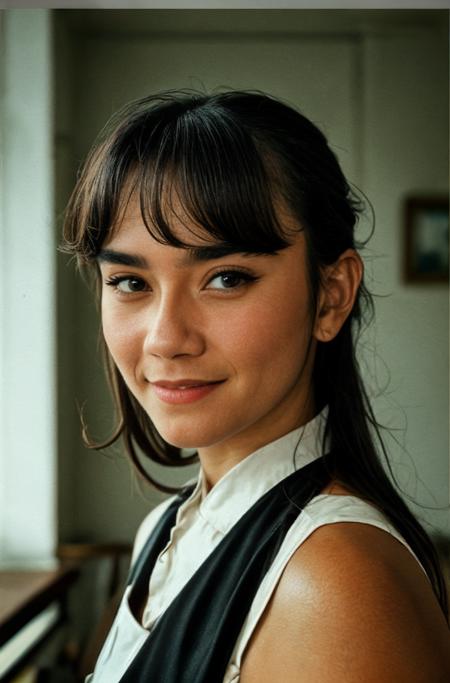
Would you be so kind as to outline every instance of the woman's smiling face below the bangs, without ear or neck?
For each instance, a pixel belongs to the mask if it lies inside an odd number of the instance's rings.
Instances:
[[[154,240],[131,201],[103,245],[105,340],[166,441],[240,459],[314,412],[305,239],[227,254],[173,228],[192,249]]]

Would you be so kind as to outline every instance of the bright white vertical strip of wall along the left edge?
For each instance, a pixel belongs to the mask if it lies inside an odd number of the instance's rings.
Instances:
[[[2,15],[0,564],[47,567],[56,542],[51,19]]]

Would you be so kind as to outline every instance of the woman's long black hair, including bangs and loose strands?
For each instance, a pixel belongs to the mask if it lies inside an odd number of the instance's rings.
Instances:
[[[288,207],[307,243],[311,309],[324,266],[354,249],[362,203],[351,190],[323,133],[301,113],[260,92],[204,94],[167,91],[127,105],[100,134],[70,199],[64,248],[91,267],[131,193],[138,192],[149,232],[183,247],[172,232],[175,196],[191,224],[242,252],[273,253],[289,244],[278,218]],[[325,438],[330,479],[380,508],[425,568],[447,618],[445,582],[436,551],[387,476],[385,453],[355,355],[355,340],[372,299],[364,282],[337,336],[318,343],[313,384],[318,407],[328,405]],[[119,437],[138,471],[158,488],[139,452],[159,463],[192,458],[166,443],[129,392],[105,348]]]

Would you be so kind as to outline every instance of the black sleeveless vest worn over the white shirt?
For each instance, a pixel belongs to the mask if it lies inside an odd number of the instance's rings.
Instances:
[[[158,619],[120,683],[222,683],[256,591],[289,527],[330,480],[325,459],[276,484],[230,529]],[[148,592],[155,561],[191,491],[165,511],[133,566],[133,611]]]

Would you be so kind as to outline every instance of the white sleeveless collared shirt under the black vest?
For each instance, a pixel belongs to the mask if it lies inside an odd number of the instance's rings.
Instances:
[[[326,417],[325,409],[304,427],[258,449],[229,470],[206,495],[200,472],[192,494],[178,509],[170,539],[155,563],[142,624],[136,621],[129,608],[128,587],[94,675],[88,677],[86,683],[117,683],[120,680],[158,617],[231,527],[270,488],[322,455]],[[144,519],[136,536],[133,561],[172,500],[159,505]],[[244,650],[295,551],[320,526],[345,521],[384,529],[411,551],[386,517],[360,498],[331,494],[313,498],[289,528],[258,588],[223,683],[238,683]]]

